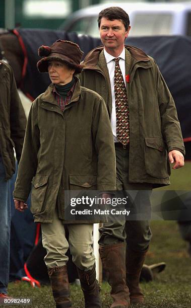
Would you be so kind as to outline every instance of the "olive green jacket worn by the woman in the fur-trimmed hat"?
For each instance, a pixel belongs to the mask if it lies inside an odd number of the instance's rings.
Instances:
[[[57,197],[59,218],[65,219],[65,190],[116,189],[114,143],[103,99],[78,80],[62,112],[52,90],[50,85],[32,104],[14,190],[15,199],[26,201],[32,182],[36,222],[52,222]]]

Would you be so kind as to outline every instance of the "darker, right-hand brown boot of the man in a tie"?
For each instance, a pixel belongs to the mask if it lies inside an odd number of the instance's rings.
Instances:
[[[126,249],[126,284],[130,290],[131,303],[144,302],[139,280],[146,253]]]

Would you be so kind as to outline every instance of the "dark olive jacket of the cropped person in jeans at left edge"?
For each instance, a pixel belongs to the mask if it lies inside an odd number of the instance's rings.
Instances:
[[[10,65],[0,61],[0,151],[8,180],[15,173],[14,148],[21,158],[26,116]]]

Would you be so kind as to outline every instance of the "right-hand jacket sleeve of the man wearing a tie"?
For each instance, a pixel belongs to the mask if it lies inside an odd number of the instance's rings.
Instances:
[[[185,155],[185,148],[174,100],[155,62],[154,69],[161,116],[161,132],[167,146],[167,151],[169,152],[173,149],[177,149]]]

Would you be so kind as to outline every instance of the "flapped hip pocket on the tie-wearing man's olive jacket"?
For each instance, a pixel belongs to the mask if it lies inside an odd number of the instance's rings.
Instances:
[[[146,172],[155,178],[167,178],[170,166],[164,141],[160,137],[145,138]]]

